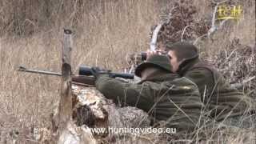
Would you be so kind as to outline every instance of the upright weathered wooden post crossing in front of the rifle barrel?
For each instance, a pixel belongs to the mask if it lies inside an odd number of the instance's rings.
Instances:
[[[65,129],[72,115],[72,90],[71,90],[71,30],[64,30],[62,46],[62,84],[60,102],[58,107],[58,134]]]

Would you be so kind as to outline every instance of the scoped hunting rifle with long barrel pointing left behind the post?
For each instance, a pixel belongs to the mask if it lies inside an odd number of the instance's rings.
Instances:
[[[35,74],[46,74],[46,75],[54,75],[54,76],[62,76],[61,73],[45,71],[45,70],[32,70],[27,69],[25,66],[19,66],[18,71],[35,73]],[[126,73],[113,73],[110,70],[102,71],[102,74],[109,74],[111,78],[126,78],[126,79],[134,79],[134,74],[126,74]],[[72,74],[72,83],[82,85],[82,86],[94,86],[95,78],[91,73],[91,68],[89,66],[80,66],[78,75]]]

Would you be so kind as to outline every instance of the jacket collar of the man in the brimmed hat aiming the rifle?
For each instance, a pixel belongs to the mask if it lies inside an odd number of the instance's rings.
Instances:
[[[150,82],[172,81],[175,78],[179,78],[178,74],[171,74],[171,73],[170,74],[161,74],[161,75],[156,75],[154,77],[146,78],[146,79],[138,82],[138,84],[141,84],[146,81],[150,81]]]

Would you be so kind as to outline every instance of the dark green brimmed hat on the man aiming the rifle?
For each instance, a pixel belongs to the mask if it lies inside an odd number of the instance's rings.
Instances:
[[[146,62],[142,62],[136,67],[135,74],[138,77],[141,77],[142,71],[148,67],[157,67],[168,72],[171,72],[172,69],[170,65],[170,58],[166,57],[165,55],[154,54],[150,58],[148,58]]]

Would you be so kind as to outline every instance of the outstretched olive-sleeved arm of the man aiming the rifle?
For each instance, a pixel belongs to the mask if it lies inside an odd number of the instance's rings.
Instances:
[[[117,79],[100,76],[96,80],[96,88],[104,94],[106,98],[113,99],[114,102],[121,101],[129,106],[136,106],[148,111],[154,105],[154,94],[158,93],[158,85],[153,82],[143,84],[131,84],[120,82]]]

